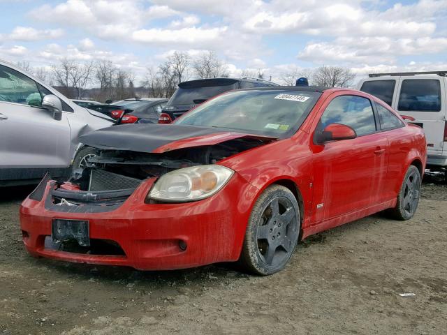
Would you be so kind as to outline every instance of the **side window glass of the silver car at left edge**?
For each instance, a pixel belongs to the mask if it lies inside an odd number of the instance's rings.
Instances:
[[[42,96],[34,80],[0,65],[0,101],[40,107]]]

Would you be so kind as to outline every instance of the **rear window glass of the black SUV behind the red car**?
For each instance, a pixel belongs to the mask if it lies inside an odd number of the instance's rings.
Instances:
[[[168,105],[194,105],[217,96],[226,91],[235,89],[235,84],[209,87],[192,87],[183,89],[179,87],[168,102]]]

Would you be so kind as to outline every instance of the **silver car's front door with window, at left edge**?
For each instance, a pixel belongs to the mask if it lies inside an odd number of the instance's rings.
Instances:
[[[41,107],[44,87],[0,65],[0,179],[34,179],[70,163],[70,126]]]

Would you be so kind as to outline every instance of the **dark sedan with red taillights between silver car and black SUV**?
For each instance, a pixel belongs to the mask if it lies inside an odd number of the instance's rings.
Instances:
[[[166,98],[131,98],[110,105],[89,105],[89,109],[119,120],[122,124],[156,124]]]

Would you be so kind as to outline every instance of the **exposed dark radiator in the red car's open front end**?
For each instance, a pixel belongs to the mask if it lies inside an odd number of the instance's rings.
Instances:
[[[89,191],[115,191],[137,188],[141,180],[105,170],[91,170]]]

